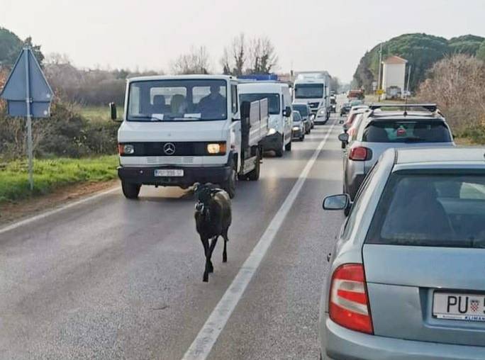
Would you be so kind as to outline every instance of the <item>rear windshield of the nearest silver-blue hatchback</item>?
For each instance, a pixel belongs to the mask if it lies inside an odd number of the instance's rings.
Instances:
[[[366,243],[485,248],[485,172],[392,174]]]

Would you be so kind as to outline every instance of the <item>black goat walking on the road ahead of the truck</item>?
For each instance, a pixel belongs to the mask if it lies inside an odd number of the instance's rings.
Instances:
[[[201,236],[204,253],[206,254],[206,269],[203,281],[208,281],[208,274],[214,271],[211,257],[219,236],[224,238],[223,262],[228,261],[227,242],[228,230],[232,221],[229,194],[217,189],[213,184],[194,185],[196,196],[195,220],[196,229]]]

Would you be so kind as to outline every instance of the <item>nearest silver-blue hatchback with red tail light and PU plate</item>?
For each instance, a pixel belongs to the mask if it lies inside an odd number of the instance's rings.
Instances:
[[[485,359],[485,149],[391,149],[328,257],[323,359]]]

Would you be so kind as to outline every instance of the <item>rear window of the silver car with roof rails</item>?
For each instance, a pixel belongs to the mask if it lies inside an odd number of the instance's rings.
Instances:
[[[362,134],[365,142],[451,142],[441,121],[372,121]]]

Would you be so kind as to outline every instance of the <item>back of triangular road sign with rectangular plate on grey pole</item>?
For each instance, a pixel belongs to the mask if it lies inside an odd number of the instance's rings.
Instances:
[[[28,64],[28,67],[27,67]],[[27,69],[29,89],[27,89]],[[29,90],[29,94],[27,91]],[[11,116],[27,116],[26,99],[30,99],[30,115],[50,116],[52,89],[30,48],[24,48],[7,79],[0,96],[6,99]]]

